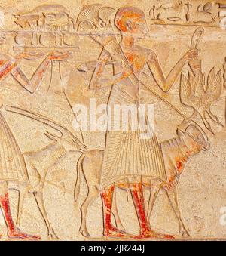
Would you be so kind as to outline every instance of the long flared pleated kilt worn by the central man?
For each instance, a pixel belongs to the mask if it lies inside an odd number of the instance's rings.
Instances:
[[[122,91],[118,85],[113,85],[108,100],[111,110],[115,104],[129,105],[131,103],[136,105],[137,113],[139,113],[137,101],[135,102],[133,97],[127,94],[126,91]],[[149,126],[149,130],[152,132],[151,137],[150,134],[144,135],[144,131],[141,131],[139,128],[134,131],[131,123],[129,123],[126,131],[106,132],[101,175],[102,187],[134,175],[145,175],[166,180],[166,171],[160,143],[151,125]]]

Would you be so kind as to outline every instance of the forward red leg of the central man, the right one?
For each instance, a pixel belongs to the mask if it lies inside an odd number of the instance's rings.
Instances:
[[[155,233],[153,230],[151,230],[151,227],[148,224],[148,220],[145,214],[145,201],[143,196],[142,183],[136,182],[131,185],[132,185],[131,193],[133,196],[133,203],[135,205],[136,213],[139,219],[140,236],[143,238],[161,238],[161,239],[173,238],[173,236]]]

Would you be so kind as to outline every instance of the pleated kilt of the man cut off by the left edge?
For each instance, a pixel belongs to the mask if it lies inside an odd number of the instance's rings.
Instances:
[[[28,174],[23,155],[4,116],[0,112],[0,182],[28,182]]]

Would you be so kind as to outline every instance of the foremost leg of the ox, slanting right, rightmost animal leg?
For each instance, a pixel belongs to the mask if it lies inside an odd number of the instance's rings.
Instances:
[[[188,233],[188,230],[185,227],[184,222],[182,221],[182,215],[181,215],[181,211],[179,210],[179,205],[178,205],[176,187],[174,187],[171,190],[165,190],[165,191],[166,191],[166,195],[170,201],[170,205],[173,208],[174,213],[176,214],[176,218],[179,221],[179,233],[182,233],[183,236],[185,236],[185,235],[190,236],[190,234]]]

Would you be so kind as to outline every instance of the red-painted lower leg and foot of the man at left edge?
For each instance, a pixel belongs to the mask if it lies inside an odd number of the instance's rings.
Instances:
[[[5,223],[8,227],[8,237],[9,238],[19,238],[19,239],[40,239],[39,236],[31,236],[23,233],[15,227],[13,218],[11,216],[11,208],[8,198],[8,184],[7,182],[0,183],[0,205],[2,207],[2,213],[5,217]]]

